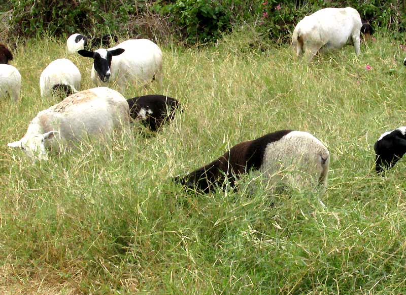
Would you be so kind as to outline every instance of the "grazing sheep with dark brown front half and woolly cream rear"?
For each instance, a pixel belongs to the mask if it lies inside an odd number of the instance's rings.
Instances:
[[[303,173],[278,180],[300,189],[308,184],[309,178],[316,178],[325,188],[329,162],[328,149],[316,137],[307,132],[281,130],[235,145],[206,166],[184,177],[175,177],[175,182],[208,193],[224,180],[234,186],[235,177],[249,170],[277,180],[278,172],[293,167],[293,171]]]

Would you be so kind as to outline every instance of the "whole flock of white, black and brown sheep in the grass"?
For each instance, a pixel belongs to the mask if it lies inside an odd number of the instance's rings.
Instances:
[[[371,33],[363,25],[353,8],[326,8],[304,17],[295,27],[292,45],[299,56],[302,52],[311,60],[319,51],[338,49],[353,44],[360,53],[360,34]],[[88,39],[74,34],[67,39],[66,51],[93,59],[91,79],[96,88],[80,90],[81,73],[68,59],[51,62],[40,77],[41,96],[62,92],[58,104],[37,114],[19,140],[9,143],[12,148],[24,150],[32,159],[48,159],[48,150],[59,151],[61,144],[80,142],[88,137],[104,138],[113,132],[128,133],[131,120],[139,120],[156,132],[166,120],[173,119],[180,108],[176,99],[162,95],[148,95],[126,100],[120,92],[128,85],[157,80],[162,86],[162,52],[148,39],[129,39],[110,49],[89,51]],[[21,75],[8,65],[11,52],[0,45],[0,95],[19,99]],[[107,87],[115,83],[120,92]],[[406,127],[386,132],[375,143],[376,170],[382,173],[391,168],[406,152]],[[232,147],[213,162],[175,177],[186,187],[208,192],[227,180],[233,185],[236,176],[250,170],[259,171],[265,179],[302,188],[317,183],[327,185],[330,155],[328,149],[307,132],[282,130],[256,140]],[[281,170],[295,171],[291,175]]]

